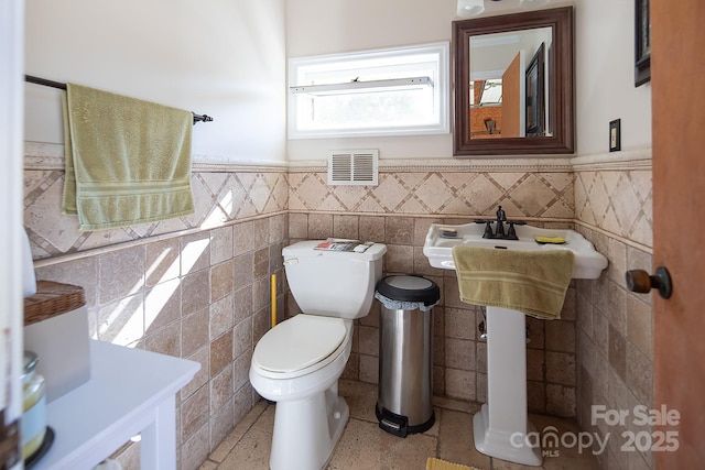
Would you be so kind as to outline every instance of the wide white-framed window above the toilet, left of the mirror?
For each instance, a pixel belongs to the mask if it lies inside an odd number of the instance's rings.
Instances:
[[[289,136],[448,132],[448,44],[289,62]]]

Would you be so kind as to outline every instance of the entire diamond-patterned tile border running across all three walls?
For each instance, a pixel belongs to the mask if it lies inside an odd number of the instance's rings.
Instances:
[[[198,156],[189,217],[80,232],[61,215],[63,145],[25,143],[25,226],[36,259],[183,233],[282,211],[570,220],[649,250],[650,150],[576,159],[384,160],[378,186],[328,186],[325,162],[223,163]]]

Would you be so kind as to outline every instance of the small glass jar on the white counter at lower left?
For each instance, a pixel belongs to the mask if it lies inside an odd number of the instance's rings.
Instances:
[[[35,371],[39,357],[24,351],[22,372],[22,459],[32,457],[42,447],[46,434],[46,385],[44,378]]]

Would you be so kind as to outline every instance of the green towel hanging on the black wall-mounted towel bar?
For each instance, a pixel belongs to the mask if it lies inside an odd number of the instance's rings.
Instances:
[[[67,84],[62,208],[80,230],[194,212],[189,111]]]

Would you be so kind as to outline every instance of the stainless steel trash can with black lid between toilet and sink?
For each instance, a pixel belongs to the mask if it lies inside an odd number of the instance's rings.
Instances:
[[[433,306],[441,291],[415,275],[392,275],[377,283],[379,325],[379,427],[395,436],[433,426]]]

